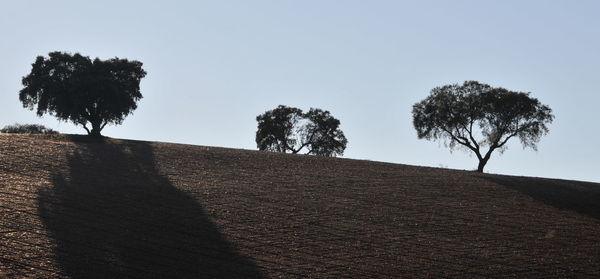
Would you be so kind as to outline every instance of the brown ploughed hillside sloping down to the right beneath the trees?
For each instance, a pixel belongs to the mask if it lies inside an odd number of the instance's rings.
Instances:
[[[597,183],[64,135],[0,159],[6,278],[600,277]]]

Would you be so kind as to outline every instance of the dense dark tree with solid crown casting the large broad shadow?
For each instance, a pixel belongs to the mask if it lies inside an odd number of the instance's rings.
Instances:
[[[144,76],[139,61],[51,52],[38,56],[31,73],[23,77],[19,100],[31,110],[37,105],[38,116],[48,113],[101,136],[107,124],[121,124],[137,108]]]

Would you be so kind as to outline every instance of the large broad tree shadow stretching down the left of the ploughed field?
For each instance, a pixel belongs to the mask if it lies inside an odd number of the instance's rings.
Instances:
[[[39,214],[72,278],[259,278],[196,200],[157,170],[144,142],[73,137],[68,170]]]

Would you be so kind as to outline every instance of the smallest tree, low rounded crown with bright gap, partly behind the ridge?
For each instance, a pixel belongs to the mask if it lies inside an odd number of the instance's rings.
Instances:
[[[304,148],[306,154],[343,155],[348,140],[339,129],[340,121],[329,111],[301,109],[280,105],[256,117],[256,145],[259,150],[291,152]]]

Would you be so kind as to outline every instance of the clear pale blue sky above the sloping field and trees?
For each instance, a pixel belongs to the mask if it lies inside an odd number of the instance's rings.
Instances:
[[[600,1],[2,1],[0,126],[22,108],[38,55],[139,60],[144,98],[116,138],[256,149],[255,117],[279,104],[340,119],[344,157],[475,169],[419,140],[412,105],[478,80],[531,92],[556,116],[538,151],[513,140],[487,172],[600,182]]]

